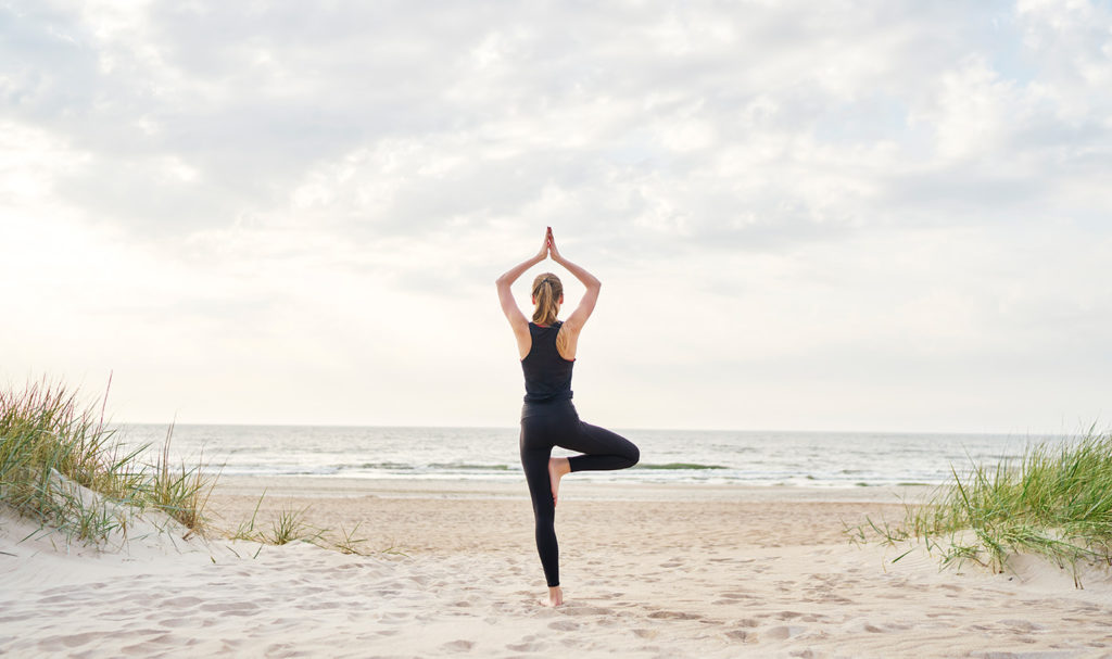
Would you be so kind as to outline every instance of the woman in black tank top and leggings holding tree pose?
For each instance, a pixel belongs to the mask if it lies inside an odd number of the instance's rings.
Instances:
[[[517,308],[509,288],[523,272],[547,257],[566,268],[587,287],[579,306],[560,322],[556,319],[564,303],[564,287],[550,272],[533,280],[533,322]],[[568,261],[556,249],[553,230],[545,232],[540,251],[510,268],[498,278],[502,311],[514,328],[517,352],[525,371],[525,406],[522,408],[522,467],[533,498],[537,553],[548,581],[548,603],[564,603],[559,587],[559,550],[556,545],[556,501],[559,480],[572,471],[625,469],[633,467],[641,452],[627,439],[579,420],[572,405],[572,367],[579,332],[595,310],[602,283],[589,272]],[[553,458],[554,446],[579,451],[572,458]]]

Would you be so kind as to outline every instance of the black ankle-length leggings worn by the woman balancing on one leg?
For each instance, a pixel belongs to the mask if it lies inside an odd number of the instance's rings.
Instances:
[[[522,467],[533,499],[537,553],[549,587],[559,586],[556,505],[548,478],[553,447],[584,453],[568,458],[572,471],[606,471],[633,467],[641,451],[628,439],[579,420],[570,400],[527,405],[522,412]]]

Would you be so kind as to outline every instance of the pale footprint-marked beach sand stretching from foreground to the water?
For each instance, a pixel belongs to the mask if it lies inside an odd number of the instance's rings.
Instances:
[[[66,547],[0,517],[0,653],[76,657],[1112,657],[1112,578],[1036,559],[940,570],[857,547],[915,490],[565,481],[567,603],[544,578],[524,483],[225,478],[234,529],[267,496],[359,525],[370,556],[147,537]],[[335,537],[336,533],[332,533]]]

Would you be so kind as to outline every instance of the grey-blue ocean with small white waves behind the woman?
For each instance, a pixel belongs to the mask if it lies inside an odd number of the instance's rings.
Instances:
[[[125,425],[131,446],[160,448],[167,426]],[[995,463],[1059,436],[907,432],[622,430],[641,463],[634,482],[810,488],[941,483],[973,462]],[[517,428],[179,425],[171,456],[228,476],[524,481]],[[572,455],[557,449],[554,455]],[[608,480],[613,473],[576,475]]]

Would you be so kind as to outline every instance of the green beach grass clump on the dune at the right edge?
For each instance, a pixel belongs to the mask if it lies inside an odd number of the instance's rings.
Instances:
[[[1011,557],[1033,553],[1072,569],[1079,587],[1080,561],[1112,566],[1112,435],[1090,430],[951,471],[925,503],[906,507],[901,523],[870,519],[847,531],[856,540],[923,541],[944,566],[972,560],[1003,571]]]

